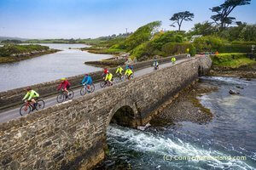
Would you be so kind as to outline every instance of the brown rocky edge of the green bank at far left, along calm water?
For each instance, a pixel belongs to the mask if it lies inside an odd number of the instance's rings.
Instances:
[[[18,62],[18,61],[24,60],[24,59],[32,59],[32,58],[39,57],[44,54],[54,54],[58,51],[61,51],[61,50],[49,49],[49,50],[43,50],[43,51],[32,51],[31,53],[11,54],[9,57],[0,57],[0,65],[15,63],[15,62]]]

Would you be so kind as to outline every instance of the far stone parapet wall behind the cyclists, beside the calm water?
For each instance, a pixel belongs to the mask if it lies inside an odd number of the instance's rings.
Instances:
[[[183,59],[185,57],[184,54],[177,55],[177,59]],[[164,59],[159,59],[160,63],[165,63],[171,60],[171,57],[167,57]],[[149,65],[152,65],[153,61],[148,60],[144,62],[139,62],[137,64],[134,64],[134,69],[138,70],[143,67],[147,67]],[[114,72],[116,68],[111,68],[109,69],[110,72]],[[94,80],[94,82],[99,82],[102,80],[102,71],[96,71],[96,72],[91,72],[90,76]],[[84,75],[79,75],[75,77],[67,77],[68,81],[71,82],[72,88],[78,88],[80,87],[80,82],[82,81]],[[39,83],[36,85],[32,85],[31,87],[35,89],[38,94],[40,94],[40,97],[47,97],[52,94],[57,94],[58,92],[56,91],[57,86],[60,84],[60,80],[55,80],[51,82],[44,82],[44,83]],[[15,105],[20,105],[21,104],[21,99],[24,97],[26,94],[26,87],[24,88],[16,88],[13,90],[8,90],[5,92],[0,92],[0,111],[9,108],[11,106]]]

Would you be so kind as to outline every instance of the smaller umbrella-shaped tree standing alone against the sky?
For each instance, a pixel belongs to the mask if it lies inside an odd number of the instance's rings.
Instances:
[[[184,11],[184,12],[179,12],[179,13],[173,14],[172,18],[170,20],[172,20],[174,22],[170,26],[175,27],[174,25],[177,24],[178,31],[180,31],[180,27],[183,24],[183,20],[192,21],[192,18],[194,18],[194,14],[190,13],[189,11]]]

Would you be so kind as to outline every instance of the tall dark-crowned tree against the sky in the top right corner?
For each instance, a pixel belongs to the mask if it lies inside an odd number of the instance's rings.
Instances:
[[[225,0],[225,2],[217,7],[210,8],[213,13],[211,19],[219,26],[220,30],[232,24],[236,20],[235,17],[230,17],[230,13],[234,8],[242,5],[250,4],[251,0]]]

